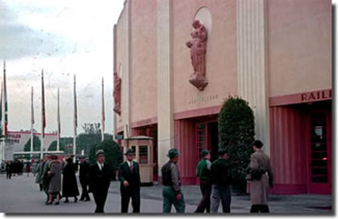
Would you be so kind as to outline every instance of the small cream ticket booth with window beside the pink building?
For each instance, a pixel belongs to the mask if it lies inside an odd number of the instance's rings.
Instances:
[[[128,148],[132,148],[135,152],[134,159],[140,165],[141,184],[153,185],[153,138],[144,135],[132,136],[125,138],[122,145],[124,152]]]

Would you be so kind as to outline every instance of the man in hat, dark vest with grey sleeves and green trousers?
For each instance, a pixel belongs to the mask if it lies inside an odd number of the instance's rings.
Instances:
[[[163,212],[170,213],[172,204],[177,213],[184,213],[185,203],[184,195],[181,191],[181,178],[178,172],[177,162],[179,153],[176,148],[169,150],[167,156],[169,161],[164,164],[161,169],[162,172],[162,194],[164,196]]]

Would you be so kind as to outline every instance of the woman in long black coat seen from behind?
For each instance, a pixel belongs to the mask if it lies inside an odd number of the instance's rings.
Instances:
[[[74,202],[77,202],[77,195],[79,195],[79,190],[77,188],[77,182],[75,177],[75,166],[72,161],[72,157],[67,158],[66,164],[64,167],[64,181],[62,195],[65,197],[65,203],[68,203],[68,197],[74,197]]]

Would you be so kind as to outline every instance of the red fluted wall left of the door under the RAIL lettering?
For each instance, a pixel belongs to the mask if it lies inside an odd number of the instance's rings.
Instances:
[[[270,107],[274,194],[307,193],[305,117],[294,106]]]

